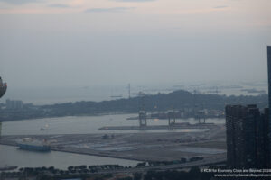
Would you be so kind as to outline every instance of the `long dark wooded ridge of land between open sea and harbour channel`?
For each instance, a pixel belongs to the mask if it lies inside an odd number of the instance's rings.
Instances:
[[[219,111],[223,114],[226,104],[251,104],[259,108],[267,107],[267,94],[257,96],[226,96],[219,94],[192,94],[175,91],[170,94],[145,95],[145,111],[164,112],[172,110],[184,114],[184,118],[195,117],[193,108]],[[75,115],[98,115],[110,112],[135,113],[139,109],[140,97],[103,102],[57,103],[52,105],[31,106],[21,110],[0,108],[0,121],[23,120],[44,117]],[[1,104],[0,104],[1,105]],[[2,104],[3,106],[3,104]],[[222,112],[222,113],[221,113]],[[211,116],[210,116],[211,117]]]

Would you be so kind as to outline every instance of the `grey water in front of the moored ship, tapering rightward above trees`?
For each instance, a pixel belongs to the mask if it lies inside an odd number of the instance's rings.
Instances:
[[[0,166],[55,166],[67,169],[68,166],[80,165],[121,165],[135,166],[138,161],[111,157],[97,157],[74,153],[51,151],[48,153],[22,150],[16,147],[0,145]]]

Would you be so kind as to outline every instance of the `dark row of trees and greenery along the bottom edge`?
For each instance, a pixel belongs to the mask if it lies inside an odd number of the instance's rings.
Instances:
[[[145,163],[138,164],[138,166],[145,166]],[[69,166],[68,170],[55,169],[51,167],[36,167],[36,168],[20,168],[18,172],[2,172],[0,179],[38,179],[38,180],[57,180],[57,179],[70,179],[79,178],[82,180],[216,180],[213,173],[202,173],[197,166],[192,167],[188,171],[181,169],[176,170],[151,170],[148,172],[136,173],[106,173],[106,171],[99,172],[98,170],[117,170],[123,169],[124,166],[118,165],[104,165],[104,166]],[[226,166],[210,166],[210,169],[225,169]],[[94,170],[94,171],[93,171]],[[221,178],[220,178],[221,179]]]

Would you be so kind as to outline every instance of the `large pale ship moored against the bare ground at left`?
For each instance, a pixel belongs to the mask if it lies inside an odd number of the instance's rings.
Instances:
[[[50,143],[46,139],[40,141],[37,139],[24,138],[17,140],[16,142],[19,148],[25,150],[43,151],[43,152],[48,152],[51,150]]]

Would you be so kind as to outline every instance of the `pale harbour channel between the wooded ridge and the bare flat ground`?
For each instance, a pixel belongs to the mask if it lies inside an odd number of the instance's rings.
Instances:
[[[183,130],[98,130],[103,126],[138,126],[138,120],[126,120],[138,114],[114,114],[103,116],[70,116],[24,121],[8,121],[2,124],[2,135],[35,134],[91,134],[91,133],[142,133],[142,132],[180,132]],[[197,123],[198,120],[181,119],[177,122]],[[207,119],[206,122],[225,123],[224,119]],[[167,120],[147,120],[148,125],[167,125]],[[44,130],[41,130],[44,129]],[[194,130],[184,130],[194,131]],[[196,130],[198,131],[198,130]],[[201,130],[200,130],[201,131]]]

